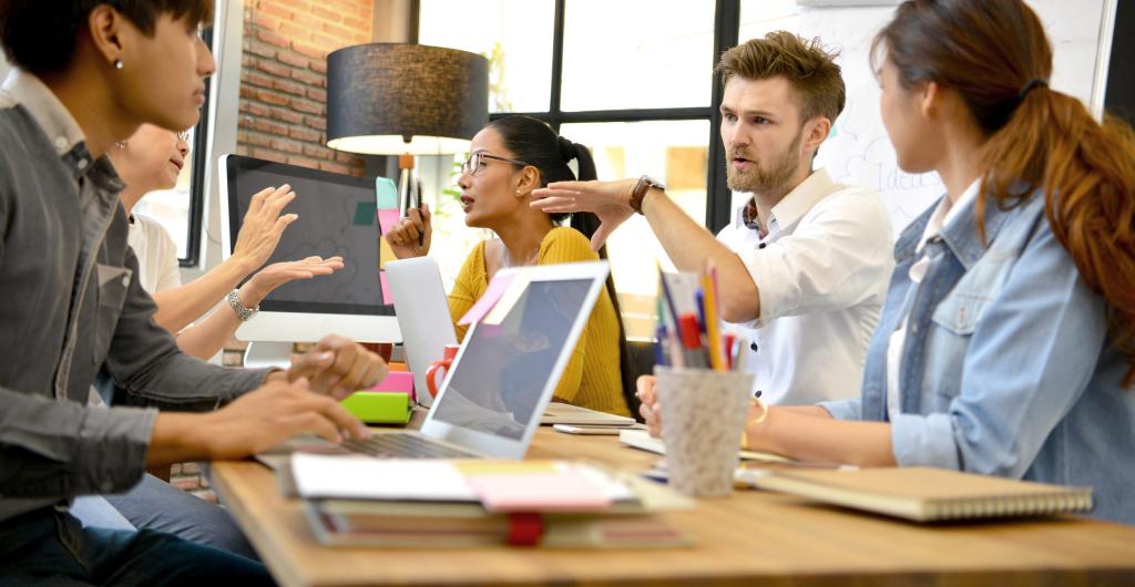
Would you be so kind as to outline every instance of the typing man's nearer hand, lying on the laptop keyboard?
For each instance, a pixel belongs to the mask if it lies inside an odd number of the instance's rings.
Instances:
[[[370,436],[362,422],[335,399],[312,393],[302,377],[267,381],[217,411],[169,416],[199,420],[185,432],[200,439],[210,460],[243,459],[302,433],[331,442]]]

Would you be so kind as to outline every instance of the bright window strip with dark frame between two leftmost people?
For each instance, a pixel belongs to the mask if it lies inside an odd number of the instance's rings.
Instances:
[[[212,45],[212,28],[202,31],[201,36],[207,45]],[[177,185],[173,189],[151,192],[134,206],[135,212],[157,220],[169,231],[177,244],[177,261],[183,267],[196,266],[201,252],[211,85],[210,79],[205,79],[205,103],[201,107],[201,119],[190,130],[190,155],[177,176]]]

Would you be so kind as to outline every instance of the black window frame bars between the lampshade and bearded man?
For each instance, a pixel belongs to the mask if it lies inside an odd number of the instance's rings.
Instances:
[[[548,110],[544,112],[494,112],[489,120],[523,114],[544,120],[557,133],[563,124],[574,122],[644,122],[655,120],[708,120],[709,150],[706,161],[706,228],[716,233],[732,218],[731,193],[725,184],[725,152],[721,142],[721,103],[724,86],[720,76],[713,76],[709,105],[692,108],[655,108],[569,111],[561,108],[564,61],[564,15],[568,0],[555,0],[555,20],[552,37],[552,92]],[[741,0],[716,0],[714,7],[713,59],[707,66],[717,66],[718,57],[738,44],[741,27]],[[716,197],[715,197],[716,196]]]

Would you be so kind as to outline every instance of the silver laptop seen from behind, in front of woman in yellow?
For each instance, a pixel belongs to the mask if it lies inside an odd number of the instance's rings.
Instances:
[[[406,364],[414,374],[418,403],[429,407],[434,398],[426,385],[426,371],[430,363],[442,360],[446,344],[457,343],[442,272],[432,257],[414,257],[388,261],[386,279],[395,299]]]

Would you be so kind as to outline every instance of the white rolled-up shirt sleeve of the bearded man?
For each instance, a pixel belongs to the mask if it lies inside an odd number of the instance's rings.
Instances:
[[[760,296],[760,317],[747,325],[861,303],[890,275],[892,247],[878,198],[857,190],[829,196],[791,235],[739,253]]]

